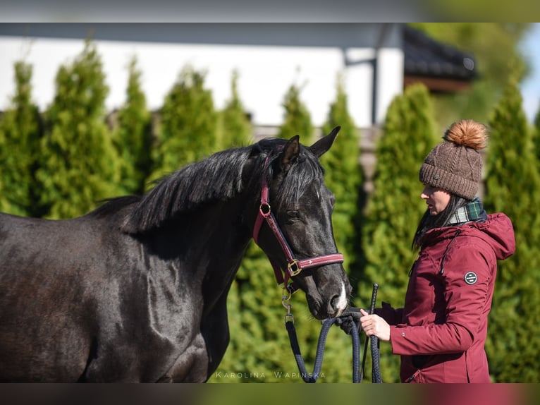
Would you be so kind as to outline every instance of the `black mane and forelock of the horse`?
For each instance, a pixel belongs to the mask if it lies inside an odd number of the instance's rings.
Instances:
[[[266,138],[254,145],[216,152],[165,176],[142,197],[114,198],[93,214],[103,216],[133,205],[125,215],[121,229],[129,234],[143,234],[157,229],[168,219],[192,212],[203,204],[230,200],[246,187],[258,189],[266,157],[266,176],[271,179],[275,166],[273,162],[281,156],[281,149],[286,142],[283,139]],[[243,169],[251,158],[255,159],[254,164],[249,179],[244,179]],[[297,164],[293,164],[288,175],[284,176],[276,198],[297,200],[310,184],[322,181],[322,173],[317,157],[301,146]]]

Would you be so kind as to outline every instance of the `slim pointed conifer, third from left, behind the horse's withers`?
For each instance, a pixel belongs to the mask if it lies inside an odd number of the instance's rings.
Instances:
[[[120,157],[121,184],[125,193],[142,194],[152,170],[151,116],[140,84],[141,72],[137,68],[137,59],[130,61],[128,71],[127,99],[118,111],[114,140]]]

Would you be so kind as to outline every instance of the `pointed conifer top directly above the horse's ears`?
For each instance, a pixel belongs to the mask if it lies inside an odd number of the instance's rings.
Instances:
[[[311,145],[314,138],[313,125],[309,111],[300,99],[300,88],[291,85],[282,105],[285,114],[279,127],[278,138],[289,139],[294,135],[300,135],[301,143]]]

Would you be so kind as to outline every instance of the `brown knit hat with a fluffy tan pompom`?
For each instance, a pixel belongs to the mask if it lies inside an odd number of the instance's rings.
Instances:
[[[471,119],[453,123],[420,167],[424,184],[472,200],[478,192],[482,173],[479,150],[486,147],[486,127]]]

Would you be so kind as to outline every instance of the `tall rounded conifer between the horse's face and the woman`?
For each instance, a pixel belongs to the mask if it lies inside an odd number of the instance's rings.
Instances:
[[[374,191],[362,228],[365,267],[359,290],[364,307],[369,305],[375,282],[380,286],[378,306],[381,301],[394,308],[403,306],[407,274],[415,260],[412,237],[425,210],[419,198],[418,171],[436,144],[435,133],[426,87],[408,87],[393,99],[376,145]],[[384,382],[398,382],[399,358],[390,350],[389,344],[381,344],[382,377]]]

